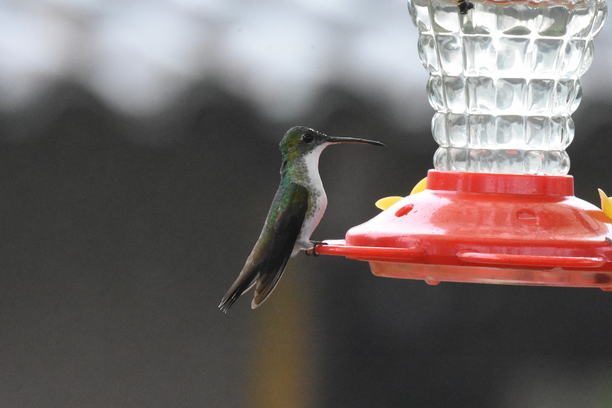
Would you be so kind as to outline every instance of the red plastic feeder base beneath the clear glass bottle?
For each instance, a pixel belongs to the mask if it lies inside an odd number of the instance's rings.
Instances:
[[[430,170],[396,202],[317,253],[370,262],[374,275],[612,290],[612,220],[573,196],[571,176]]]

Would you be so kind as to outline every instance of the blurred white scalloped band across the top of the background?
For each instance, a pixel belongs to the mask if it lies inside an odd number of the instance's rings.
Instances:
[[[611,32],[595,40],[583,100],[610,93]],[[0,110],[72,80],[155,114],[212,78],[275,119],[330,83],[420,116],[431,109],[416,44],[406,0],[0,0]]]

